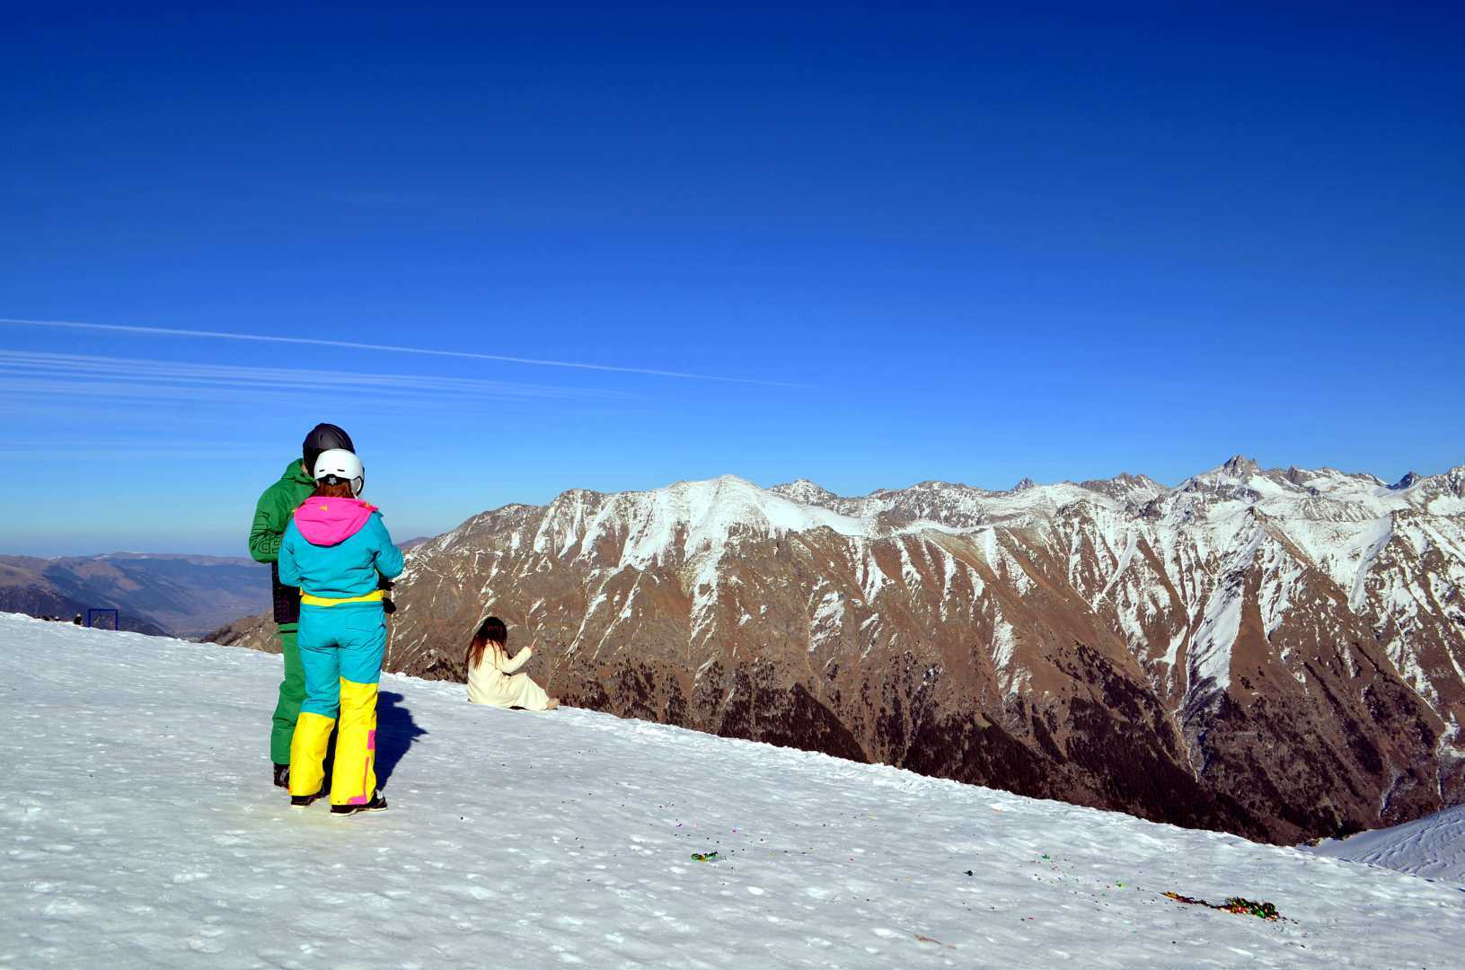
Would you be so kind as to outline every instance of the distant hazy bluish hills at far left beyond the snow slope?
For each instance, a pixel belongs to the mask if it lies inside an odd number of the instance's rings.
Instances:
[[[70,618],[116,610],[123,630],[202,636],[270,605],[270,570],[246,558],[0,555],[0,610]]]

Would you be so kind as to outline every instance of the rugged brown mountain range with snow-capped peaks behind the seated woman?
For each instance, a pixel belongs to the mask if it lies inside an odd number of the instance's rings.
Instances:
[[[719,478],[423,544],[388,667],[460,678],[491,611],[576,705],[1295,841],[1465,800],[1462,580],[1465,467]]]

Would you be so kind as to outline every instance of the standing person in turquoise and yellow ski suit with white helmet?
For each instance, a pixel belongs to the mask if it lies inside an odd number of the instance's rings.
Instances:
[[[322,451],[315,492],[280,541],[280,582],[300,588],[305,667],[305,703],[290,740],[290,804],[306,807],[325,793],[334,728],[334,815],[387,809],[375,772],[377,683],[387,649],[381,580],[401,573],[401,549],[377,507],[357,498],[365,484],[360,459],[341,448]]]

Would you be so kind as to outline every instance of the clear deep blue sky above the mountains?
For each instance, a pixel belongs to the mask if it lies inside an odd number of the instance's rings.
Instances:
[[[16,15],[0,316],[135,330],[0,324],[0,552],[239,552],[316,421],[401,538],[1461,464],[1465,16],[1173,6]]]

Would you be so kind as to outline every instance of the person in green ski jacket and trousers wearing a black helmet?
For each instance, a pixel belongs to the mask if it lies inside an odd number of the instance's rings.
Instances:
[[[270,731],[270,760],[274,762],[274,782],[290,784],[290,740],[305,700],[305,667],[296,633],[300,629],[300,590],[280,583],[280,536],[290,525],[290,516],[315,491],[315,460],[321,451],[346,448],[356,451],[352,437],[335,425],[316,425],[305,435],[303,457],[286,466],[280,481],[265,489],[255,506],[255,523],[249,527],[249,555],[258,563],[270,563],[274,585],[274,620],[280,629],[280,652],[284,654],[284,680],[280,681],[280,702],[275,705],[274,727]]]

